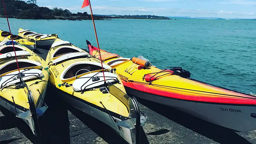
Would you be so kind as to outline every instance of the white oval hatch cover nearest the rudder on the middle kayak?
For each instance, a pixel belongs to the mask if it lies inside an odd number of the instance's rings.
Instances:
[[[97,75],[95,75],[95,74],[97,74]],[[105,75],[106,82],[111,83],[111,82],[115,82],[117,80],[117,75],[115,75],[114,73],[104,72],[104,75]],[[99,80],[93,82],[92,78],[91,78],[93,76],[98,77]],[[103,84],[104,84],[103,73],[102,72],[93,72],[93,73],[83,75],[80,78],[76,79],[73,83],[73,89],[74,89],[74,91],[81,91],[81,90],[84,90],[84,88],[89,89],[89,88],[97,87],[97,86],[100,86]]]

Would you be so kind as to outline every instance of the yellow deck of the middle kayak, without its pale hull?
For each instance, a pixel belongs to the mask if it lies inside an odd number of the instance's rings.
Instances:
[[[57,43],[57,42],[61,42],[61,41],[62,41],[61,39],[56,39],[54,44]],[[63,51],[61,51],[61,48],[62,48]],[[68,49],[68,48],[71,48],[71,49]],[[75,51],[72,48],[74,48],[75,50],[78,50],[78,51]],[[85,91],[85,92],[81,93],[81,92],[74,91],[72,86],[68,86],[68,87],[59,86],[61,84],[63,85],[63,83],[65,83],[67,85],[73,84],[74,81],[76,80],[76,77],[75,77],[74,74],[69,76],[69,78],[66,78],[64,80],[63,80],[63,78],[61,78],[62,72],[65,71],[65,69],[67,69],[68,67],[72,66],[74,63],[95,62],[95,63],[100,64],[100,60],[98,60],[96,58],[91,58],[91,57],[67,59],[63,62],[60,62],[59,64],[56,64],[56,65],[52,64],[52,62],[54,60],[60,58],[61,56],[64,56],[65,54],[69,55],[69,54],[67,54],[69,52],[72,53],[72,54],[75,54],[75,53],[76,54],[79,54],[79,53],[88,54],[84,50],[82,50],[82,49],[80,49],[76,46],[73,46],[73,45],[64,45],[64,46],[60,45],[60,46],[56,46],[54,48],[50,48],[49,53],[47,55],[47,60],[46,60],[46,62],[49,63],[49,71],[50,71],[50,74],[51,74],[50,75],[50,83],[52,85],[54,85],[56,88],[63,91],[64,93],[68,93],[68,94],[70,94],[70,95],[72,95],[76,98],[81,99],[82,101],[84,100],[88,103],[91,103],[91,104],[93,104],[97,107],[101,107],[101,108],[104,108],[102,106],[102,104],[103,104],[107,110],[115,112],[115,113],[120,114],[122,116],[128,117],[129,113],[128,113],[127,107],[118,98],[116,98],[115,96],[113,96],[110,93],[102,93],[100,91],[100,89],[88,90],[88,91]],[[73,69],[75,69],[75,68],[73,68]],[[78,69],[82,69],[82,67],[78,68]],[[93,69],[92,67],[89,67],[89,66],[87,67],[87,69],[93,70],[93,71],[91,71],[91,73],[102,71],[101,68],[98,68],[98,69],[95,70],[95,69]],[[76,72],[77,70],[74,70],[74,71]],[[90,72],[85,72],[85,73],[82,73],[80,75],[77,74],[77,78],[79,78],[81,76],[86,76],[89,73]],[[117,76],[117,78],[118,78],[118,76]],[[119,78],[118,78],[118,80],[121,81]],[[119,88],[120,90],[122,90],[123,92],[126,93],[126,91],[124,89],[124,86],[121,82],[117,83],[117,84],[114,84],[114,85],[117,88]],[[102,104],[100,102],[102,102]]]

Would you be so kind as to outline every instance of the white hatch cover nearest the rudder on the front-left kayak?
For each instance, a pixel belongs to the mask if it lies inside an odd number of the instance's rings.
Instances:
[[[38,69],[20,70],[20,73],[24,74],[24,75],[22,74],[23,81],[39,78],[43,76],[42,71]],[[14,76],[13,74],[17,74],[17,75]],[[18,76],[19,76],[18,70],[15,72],[8,73],[6,76],[2,76],[0,78],[0,88],[11,85],[11,84],[19,83],[20,78]]]

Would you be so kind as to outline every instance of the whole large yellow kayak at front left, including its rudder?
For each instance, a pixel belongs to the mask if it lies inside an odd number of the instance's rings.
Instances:
[[[38,117],[47,109],[44,103],[49,78],[47,63],[25,46],[15,45],[15,51],[20,73],[13,46],[0,46],[1,105],[24,120],[38,136]]]

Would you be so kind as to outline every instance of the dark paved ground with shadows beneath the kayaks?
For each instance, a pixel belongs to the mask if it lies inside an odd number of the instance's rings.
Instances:
[[[47,50],[35,50],[45,58]],[[181,111],[137,98],[148,116],[141,128],[141,144],[256,144],[256,131],[234,132]],[[45,99],[49,108],[39,123],[42,137],[34,137],[30,128],[1,107],[1,144],[125,144],[110,127],[80,112],[61,100],[51,87]]]

